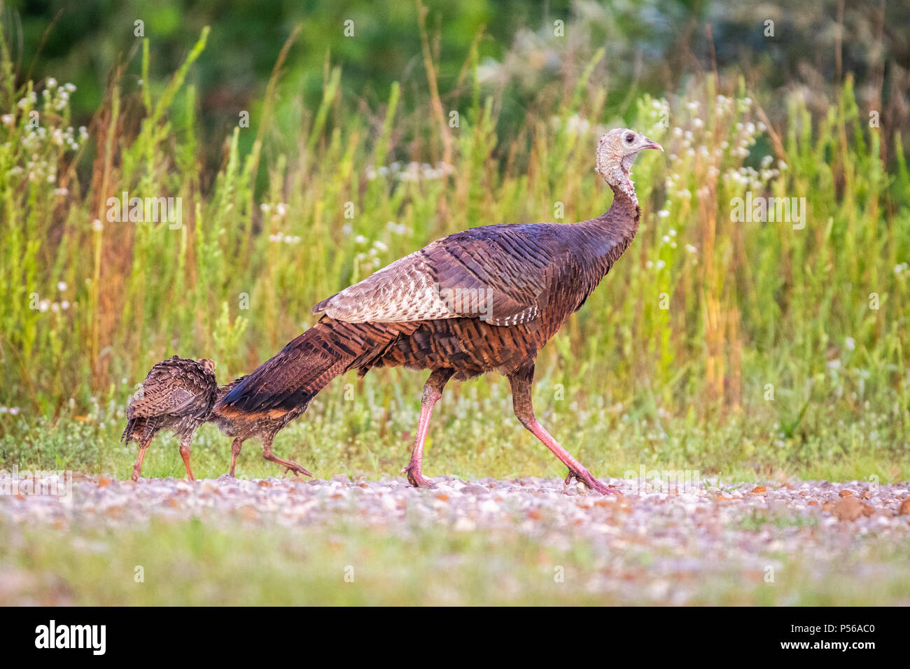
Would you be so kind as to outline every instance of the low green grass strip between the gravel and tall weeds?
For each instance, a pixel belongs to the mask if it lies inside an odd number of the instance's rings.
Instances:
[[[325,391],[328,399],[314,402],[301,420],[280,432],[275,451],[320,478],[338,473],[369,479],[397,475],[410,457],[420,377],[410,374],[410,396],[379,400],[372,398],[381,398],[389,389],[379,380],[368,379],[353,400],[341,400],[341,409],[333,409],[333,395],[345,392],[342,384],[347,380],[334,382]],[[462,479],[565,474],[551,452],[515,419],[508,384],[500,383],[499,399],[484,402],[472,396],[477,384],[452,384],[434,413],[424,473]],[[625,477],[632,471],[637,477],[644,466],[698,471],[703,478],[719,475],[723,481],[910,480],[910,453],[892,450],[895,441],[888,440],[900,436],[888,425],[887,416],[869,416],[846,426],[826,425],[810,415],[818,421],[817,427],[787,438],[760,418],[693,424],[668,417],[655,423],[632,420],[614,410],[585,411],[564,401],[547,402],[542,395],[539,391],[543,424],[601,476]],[[4,466],[8,469],[17,463],[20,470],[72,469],[127,478],[136,459],[136,444],[124,446],[118,441],[121,412],[112,406],[110,416],[100,421],[67,420],[56,425],[22,421],[20,429],[0,437]],[[229,459],[230,440],[214,426],[202,426],[193,441],[197,477],[216,478],[227,471]],[[157,437],[147,452],[143,473],[147,477],[185,475],[175,437]],[[262,459],[258,441],[244,445],[239,477],[284,475],[282,468]]]

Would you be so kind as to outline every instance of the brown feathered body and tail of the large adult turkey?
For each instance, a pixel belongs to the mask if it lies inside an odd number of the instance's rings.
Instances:
[[[401,274],[392,285],[382,285],[380,270],[358,284],[360,289],[320,302],[317,313],[358,321],[323,316],[237,383],[216,411],[250,419],[291,413],[292,420],[329,380],[353,369],[363,374],[372,367],[447,368],[462,380],[519,370],[581,308],[632,241],[638,218],[637,206],[617,198],[602,217],[583,223],[489,226],[433,242],[402,258],[411,259],[398,266]],[[476,313],[429,319],[420,307],[431,302],[420,299],[410,310],[413,319],[383,320],[402,314],[406,309],[396,305],[417,294],[410,289],[419,282],[411,275],[417,268],[432,270],[421,290],[438,285],[440,301],[448,299],[456,308],[470,301]],[[459,300],[459,291],[467,297]],[[436,308],[431,304],[428,310]]]

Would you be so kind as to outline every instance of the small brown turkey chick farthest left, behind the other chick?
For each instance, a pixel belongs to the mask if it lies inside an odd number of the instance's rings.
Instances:
[[[133,466],[133,481],[142,475],[142,460],[157,431],[172,430],[180,440],[180,456],[187,477],[195,481],[189,467],[189,444],[193,432],[204,423],[217,397],[215,363],[206,358],[168,358],[148,371],[146,380],[126,407],[126,430],[120,441],[139,442],[139,456]]]

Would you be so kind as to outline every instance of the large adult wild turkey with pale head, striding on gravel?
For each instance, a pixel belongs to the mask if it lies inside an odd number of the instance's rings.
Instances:
[[[638,231],[641,209],[632,163],[662,147],[627,129],[601,137],[597,168],[613,191],[611,208],[571,225],[532,223],[472,228],[432,242],[379,269],[313,308],[322,318],[217,401],[224,416],[297,418],[332,378],[347,370],[403,365],[432,370],[407,472],[412,485],[434,487],[420,472],[430,413],[452,377],[499,371],[511,383],[521,424],[577,478],[597,481],[534,417],[531,382],[537,353],[581,308]],[[283,425],[282,425],[283,426]]]

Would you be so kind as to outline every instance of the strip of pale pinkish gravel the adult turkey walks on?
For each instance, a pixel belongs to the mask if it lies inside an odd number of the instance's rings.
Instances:
[[[197,517],[215,525],[331,526],[356,522],[411,537],[428,526],[451,532],[521,532],[556,548],[583,541],[606,568],[589,588],[641,592],[660,601],[671,583],[685,603],[687,578],[731,569],[761,581],[783,560],[804,559],[824,570],[870,542],[910,540],[910,485],[865,481],[755,483],[723,489],[695,484],[683,492],[640,489],[614,479],[620,497],[586,493],[562,481],[459,481],[437,478],[435,490],[416,490],[403,478],[349,481],[264,479],[189,482],[118,481],[76,474],[70,501],[49,495],[0,495],[0,522],[45,523],[60,531],[141,527],[152,517]],[[605,480],[606,481],[606,480]]]

